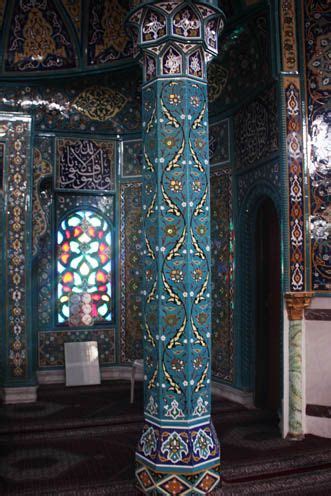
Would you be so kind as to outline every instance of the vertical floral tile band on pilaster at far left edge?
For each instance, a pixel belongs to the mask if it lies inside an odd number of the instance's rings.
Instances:
[[[7,332],[8,378],[28,377],[28,339],[30,318],[29,254],[31,201],[29,165],[30,117],[1,118],[1,137],[8,140],[8,165],[6,170],[6,238],[5,238],[5,309]]]

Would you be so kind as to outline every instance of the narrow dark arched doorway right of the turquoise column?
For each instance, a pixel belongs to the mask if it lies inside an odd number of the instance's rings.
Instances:
[[[255,405],[280,406],[280,229],[273,202],[257,211]]]

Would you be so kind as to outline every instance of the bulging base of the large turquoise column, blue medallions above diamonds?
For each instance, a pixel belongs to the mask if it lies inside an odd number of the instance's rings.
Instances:
[[[220,447],[214,426],[157,425],[145,418],[136,451],[136,480],[149,495],[203,495],[220,482]]]

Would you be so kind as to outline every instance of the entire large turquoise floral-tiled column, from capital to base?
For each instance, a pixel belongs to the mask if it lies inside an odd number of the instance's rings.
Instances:
[[[145,424],[136,477],[147,494],[219,482],[210,419],[210,214],[206,65],[212,2],[144,2],[129,16],[143,54]]]

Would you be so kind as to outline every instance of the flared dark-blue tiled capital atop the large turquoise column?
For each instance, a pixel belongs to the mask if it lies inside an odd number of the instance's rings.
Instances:
[[[206,80],[206,64],[218,53],[224,14],[208,1],[135,2],[128,27],[136,55],[143,55],[144,81],[188,76]]]

